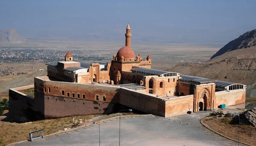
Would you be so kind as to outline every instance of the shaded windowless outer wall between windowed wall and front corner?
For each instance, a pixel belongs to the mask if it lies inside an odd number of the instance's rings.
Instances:
[[[120,104],[141,112],[165,117],[165,100],[154,94],[141,93],[131,89],[119,89]]]

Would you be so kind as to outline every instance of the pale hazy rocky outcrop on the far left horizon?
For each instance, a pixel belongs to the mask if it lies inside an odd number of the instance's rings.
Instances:
[[[0,30],[0,43],[24,43],[25,41],[16,29]]]

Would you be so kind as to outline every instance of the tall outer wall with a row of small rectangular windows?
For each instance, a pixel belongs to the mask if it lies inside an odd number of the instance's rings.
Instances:
[[[44,102],[35,102],[35,106],[44,104],[45,118],[112,113],[114,109],[119,109],[119,104],[116,104],[119,102],[116,94],[118,87],[58,82],[51,81],[49,78],[47,80],[45,77],[44,80],[40,78],[35,77],[35,85],[41,86],[41,88],[35,88],[35,101],[43,98]]]

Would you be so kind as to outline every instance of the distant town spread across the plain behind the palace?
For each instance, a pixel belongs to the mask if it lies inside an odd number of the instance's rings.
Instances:
[[[75,60],[111,60],[112,55],[100,54],[104,50],[72,50]],[[0,62],[30,62],[38,61],[42,63],[57,62],[64,59],[67,50],[40,49],[40,48],[3,48],[0,49]]]

